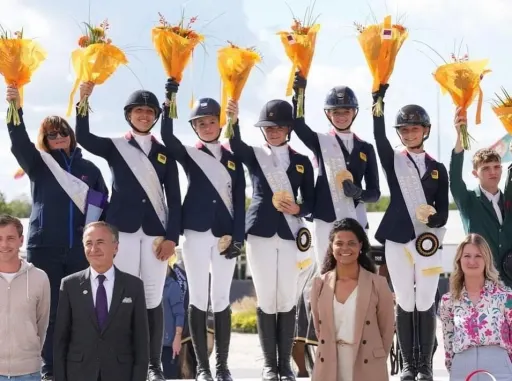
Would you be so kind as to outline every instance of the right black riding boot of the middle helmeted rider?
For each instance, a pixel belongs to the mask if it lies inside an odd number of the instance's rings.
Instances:
[[[295,307],[288,312],[277,314],[278,369],[281,381],[295,381],[291,367],[293,339],[295,335]]]

